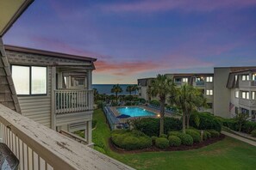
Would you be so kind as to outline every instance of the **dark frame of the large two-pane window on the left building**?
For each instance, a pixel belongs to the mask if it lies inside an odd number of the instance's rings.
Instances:
[[[12,74],[12,67],[20,66],[20,67],[28,67],[29,68],[29,94],[17,94],[17,96],[46,96],[48,94],[47,84],[48,84],[48,67],[42,65],[22,65],[22,64],[10,64],[10,71]],[[32,94],[32,67],[42,67],[46,68],[46,93],[45,94]],[[12,77],[13,78],[13,77]]]

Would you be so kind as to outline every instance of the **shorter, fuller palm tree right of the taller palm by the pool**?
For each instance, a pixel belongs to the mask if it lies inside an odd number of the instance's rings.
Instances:
[[[190,128],[190,113],[197,107],[206,106],[206,99],[197,89],[188,84],[184,84],[178,89],[178,93],[173,97],[172,102],[183,112],[183,132],[185,128]]]

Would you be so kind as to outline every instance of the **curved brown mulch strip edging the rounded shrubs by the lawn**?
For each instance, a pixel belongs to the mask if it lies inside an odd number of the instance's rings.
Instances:
[[[119,154],[137,154],[137,153],[142,153],[142,152],[162,152],[162,151],[179,151],[179,150],[190,150],[190,149],[200,149],[205,146],[208,146],[209,144],[216,143],[224,139],[226,136],[221,134],[220,137],[212,137],[209,138],[206,141],[203,141],[201,143],[193,143],[192,146],[185,146],[185,145],[180,145],[179,147],[170,147],[168,149],[159,149],[155,146],[152,146],[147,149],[137,149],[137,150],[125,150],[125,149],[120,149],[116,147],[114,143],[112,143],[111,139],[109,138],[109,148],[116,153]]]

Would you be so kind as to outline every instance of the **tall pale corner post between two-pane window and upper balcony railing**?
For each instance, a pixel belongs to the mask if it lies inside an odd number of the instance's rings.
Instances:
[[[56,89],[56,67],[52,67],[52,121],[51,121],[51,128],[56,131],[56,112],[55,112],[55,105],[56,105],[56,98],[55,98],[55,89]]]

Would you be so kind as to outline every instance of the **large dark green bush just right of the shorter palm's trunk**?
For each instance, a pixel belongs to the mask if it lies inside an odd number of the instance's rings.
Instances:
[[[193,112],[190,115],[190,125],[199,130],[213,129],[215,131],[222,131],[222,122],[220,119],[215,118],[209,112]]]

